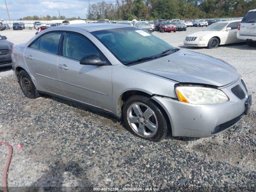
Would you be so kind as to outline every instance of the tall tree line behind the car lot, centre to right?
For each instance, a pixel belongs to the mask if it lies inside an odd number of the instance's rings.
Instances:
[[[256,0],[116,0],[90,5],[88,19],[196,19],[243,17]]]

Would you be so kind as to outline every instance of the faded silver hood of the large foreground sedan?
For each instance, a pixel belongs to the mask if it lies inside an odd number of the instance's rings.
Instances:
[[[204,54],[179,50],[168,56],[130,66],[177,82],[224,86],[240,75],[230,64]]]

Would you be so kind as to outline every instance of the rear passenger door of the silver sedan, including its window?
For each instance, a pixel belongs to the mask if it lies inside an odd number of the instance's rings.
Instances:
[[[24,59],[32,79],[42,91],[63,95],[58,76],[58,48],[62,32],[44,34],[25,49]]]

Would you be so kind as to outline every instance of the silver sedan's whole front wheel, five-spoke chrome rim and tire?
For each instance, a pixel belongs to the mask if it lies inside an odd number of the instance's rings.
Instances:
[[[127,130],[140,138],[157,142],[168,133],[166,115],[149,97],[131,96],[123,106],[122,115]]]

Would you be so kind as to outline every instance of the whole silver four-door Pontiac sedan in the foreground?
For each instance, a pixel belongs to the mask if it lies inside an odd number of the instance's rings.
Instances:
[[[236,124],[251,104],[230,64],[123,24],[49,28],[14,46],[12,61],[28,98],[44,93],[103,109],[152,141],[168,132],[218,134]]]

